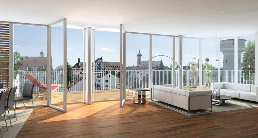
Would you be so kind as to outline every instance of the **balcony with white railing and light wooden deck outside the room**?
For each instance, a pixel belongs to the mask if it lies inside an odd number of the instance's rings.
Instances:
[[[177,78],[177,70],[176,78]],[[40,82],[46,84],[46,71],[20,71],[16,77],[15,85],[18,86],[16,96],[22,95],[24,83],[30,83],[30,80],[24,74],[31,74],[35,76]],[[171,85],[172,84],[172,70],[153,70],[152,71],[152,85]],[[218,82],[218,70],[212,70],[212,83]],[[67,71],[67,103],[82,103],[83,102],[83,71]],[[95,85],[95,101],[109,101],[120,99],[120,74],[119,71],[95,71],[96,85]],[[63,102],[63,71],[51,71],[52,84],[61,86],[52,94],[52,103]],[[234,70],[221,70],[221,82],[234,82]],[[203,72],[202,89],[207,90],[210,87],[205,87],[205,79]],[[148,71],[127,70],[126,72],[126,99],[132,99],[133,93],[130,89],[134,88],[148,88]],[[106,81],[108,80],[108,81]],[[238,70],[238,83],[254,84],[254,71]],[[176,79],[177,87],[177,79]],[[190,71],[183,70],[183,89],[198,90],[199,88],[190,88]],[[106,87],[108,85],[108,87]],[[149,93],[146,95],[149,96]],[[35,105],[46,105],[46,91],[39,87],[34,87],[33,100]],[[31,103],[25,103],[29,106]],[[23,106],[23,103],[17,103],[17,106]]]

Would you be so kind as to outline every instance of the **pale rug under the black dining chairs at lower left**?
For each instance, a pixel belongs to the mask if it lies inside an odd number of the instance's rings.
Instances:
[[[22,128],[23,124],[29,118],[32,111],[33,111],[32,109],[26,110],[26,111],[16,110],[17,121],[16,121],[16,118],[14,118],[14,111],[10,111],[12,127],[10,124],[8,112],[6,112],[6,120],[7,120],[7,126],[8,126],[9,131],[7,131],[7,129],[6,129],[4,115],[1,115],[0,116],[0,124],[1,124],[3,138],[15,138],[16,135],[19,133],[20,129]]]

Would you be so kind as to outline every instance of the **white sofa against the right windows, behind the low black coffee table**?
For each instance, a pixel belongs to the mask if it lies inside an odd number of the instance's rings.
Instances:
[[[258,102],[258,85],[239,83],[212,83],[211,90],[220,88],[221,95]]]

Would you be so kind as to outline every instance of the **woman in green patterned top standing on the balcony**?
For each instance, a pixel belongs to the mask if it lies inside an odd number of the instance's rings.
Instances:
[[[206,81],[206,86],[205,87],[210,87],[210,83],[211,83],[211,70],[213,70],[213,66],[212,64],[209,62],[210,59],[207,57],[205,59],[206,63],[204,63],[204,65],[202,66],[202,69],[204,70],[204,74],[205,74],[205,81]]]

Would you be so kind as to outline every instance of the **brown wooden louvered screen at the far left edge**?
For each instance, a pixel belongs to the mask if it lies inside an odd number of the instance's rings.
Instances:
[[[0,22],[0,83],[9,88],[9,24]]]

